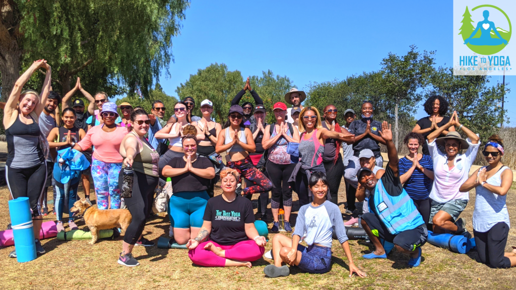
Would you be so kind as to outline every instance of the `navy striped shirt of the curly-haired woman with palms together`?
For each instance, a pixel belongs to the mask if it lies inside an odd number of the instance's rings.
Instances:
[[[419,164],[425,168],[425,170],[433,171],[433,162],[430,155],[423,155]],[[399,175],[405,174],[412,167],[412,160],[407,157],[399,159]],[[425,173],[419,169],[414,169],[412,175],[403,185],[403,188],[407,191],[407,194],[415,200],[425,200],[432,191],[433,180],[429,179]]]

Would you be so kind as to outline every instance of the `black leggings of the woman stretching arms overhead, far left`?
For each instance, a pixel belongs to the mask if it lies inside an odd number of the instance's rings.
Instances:
[[[40,204],[43,201],[43,189],[46,183],[46,162],[29,168],[6,166],[5,175],[12,199],[28,197],[32,216],[40,216]]]

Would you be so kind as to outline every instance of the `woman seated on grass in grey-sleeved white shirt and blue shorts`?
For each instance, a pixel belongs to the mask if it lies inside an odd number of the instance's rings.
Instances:
[[[308,186],[312,190],[313,201],[299,209],[293,239],[281,234],[272,238],[274,264],[265,266],[265,275],[271,278],[288,276],[290,270],[286,265],[281,266],[282,262],[296,265],[309,273],[330,271],[332,234],[335,229],[338,241],[348,258],[349,277],[353,272],[360,277],[365,277],[365,273],[353,263],[340,209],[336,204],[326,200],[329,187],[326,175],[322,172],[314,172],[310,176]],[[304,241],[309,245],[308,248],[299,245],[305,233]]]

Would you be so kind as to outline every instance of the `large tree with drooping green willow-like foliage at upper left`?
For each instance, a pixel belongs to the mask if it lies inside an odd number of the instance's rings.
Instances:
[[[0,74],[2,100],[20,74],[23,63],[47,59],[54,89],[65,94],[81,73],[140,88],[149,95],[153,81],[167,69],[172,37],[179,34],[188,0],[65,1],[6,0],[0,4]]]

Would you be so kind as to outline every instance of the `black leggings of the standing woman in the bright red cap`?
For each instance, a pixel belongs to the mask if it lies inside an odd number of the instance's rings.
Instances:
[[[288,185],[288,179],[295,167],[295,163],[276,164],[270,161],[267,162],[267,176],[272,181],[271,208],[280,208],[281,198],[283,198],[284,206],[292,206],[292,188]]]

